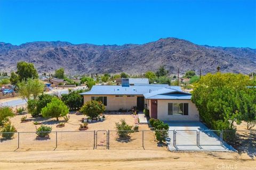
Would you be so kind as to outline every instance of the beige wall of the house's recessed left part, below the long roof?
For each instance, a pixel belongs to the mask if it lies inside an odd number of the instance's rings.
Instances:
[[[115,95],[84,95],[84,104],[86,101],[90,101],[92,96],[107,97],[106,111],[118,111],[120,108],[131,110],[133,106],[137,106],[138,95],[134,95],[134,97],[127,97],[126,95],[123,95],[123,97],[116,97]]]

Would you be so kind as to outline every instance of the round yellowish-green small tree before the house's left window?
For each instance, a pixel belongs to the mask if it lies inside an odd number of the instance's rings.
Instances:
[[[99,114],[105,111],[105,106],[101,101],[91,100],[87,101],[85,105],[80,109],[80,112],[90,117],[97,117]]]

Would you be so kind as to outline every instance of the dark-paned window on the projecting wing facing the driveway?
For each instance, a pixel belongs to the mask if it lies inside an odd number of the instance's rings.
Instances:
[[[168,115],[188,115],[188,103],[169,103]]]

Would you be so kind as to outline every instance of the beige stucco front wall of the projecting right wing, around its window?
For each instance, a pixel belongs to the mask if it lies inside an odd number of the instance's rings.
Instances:
[[[168,115],[168,103],[188,103],[188,115]],[[162,121],[199,121],[199,112],[191,100],[157,100],[157,118]]]

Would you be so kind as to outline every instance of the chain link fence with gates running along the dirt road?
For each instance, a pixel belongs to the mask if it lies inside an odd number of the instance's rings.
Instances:
[[[256,131],[137,130],[55,131],[46,137],[36,132],[4,132],[0,151],[145,149],[145,150],[232,150],[256,155]],[[159,142],[163,139],[163,142]],[[231,147],[231,146],[233,147]]]

